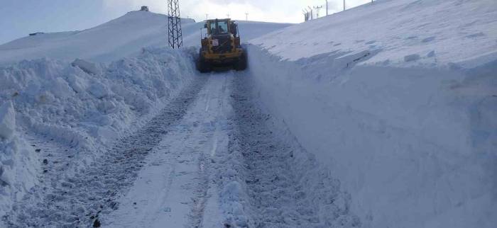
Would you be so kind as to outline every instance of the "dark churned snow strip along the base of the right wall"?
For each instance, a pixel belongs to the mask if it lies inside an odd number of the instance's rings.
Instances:
[[[248,77],[232,84],[236,130],[229,153],[236,177],[222,192],[230,205],[225,227],[360,227],[339,181],[256,106]]]

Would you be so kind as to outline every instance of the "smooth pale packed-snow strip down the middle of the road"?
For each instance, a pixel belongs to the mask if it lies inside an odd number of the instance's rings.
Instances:
[[[206,76],[207,77],[207,76]],[[212,159],[226,151],[229,76],[214,74],[187,114],[146,159],[108,227],[219,227]],[[107,227],[107,226],[106,226]]]

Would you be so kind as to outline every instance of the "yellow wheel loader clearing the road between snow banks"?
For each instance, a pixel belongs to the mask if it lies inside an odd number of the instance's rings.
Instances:
[[[238,71],[247,67],[247,53],[241,47],[238,24],[231,19],[205,21],[207,33],[202,35],[202,47],[197,59],[197,69],[211,72],[215,67],[232,67]]]

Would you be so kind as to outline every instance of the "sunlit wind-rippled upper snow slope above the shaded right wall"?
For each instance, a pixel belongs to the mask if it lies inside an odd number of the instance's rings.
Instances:
[[[251,42],[289,60],[378,50],[365,64],[388,61],[392,66],[404,66],[406,56],[434,51],[436,59],[418,62],[435,67],[495,53],[496,12],[493,0],[382,0]]]

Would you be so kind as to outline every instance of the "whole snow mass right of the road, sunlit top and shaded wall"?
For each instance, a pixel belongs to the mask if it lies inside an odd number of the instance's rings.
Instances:
[[[496,1],[375,1],[250,43],[256,96],[364,227],[497,224]]]

